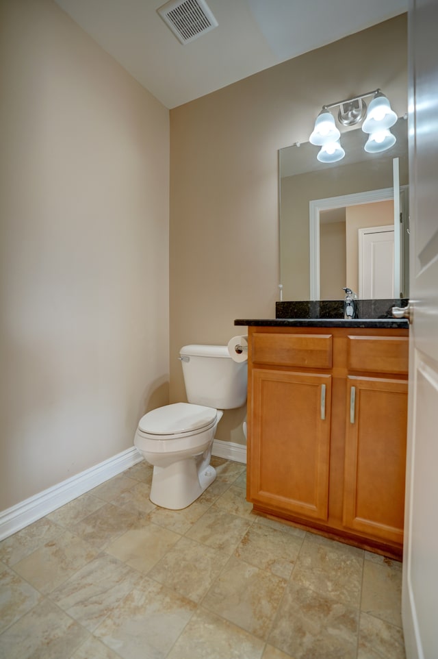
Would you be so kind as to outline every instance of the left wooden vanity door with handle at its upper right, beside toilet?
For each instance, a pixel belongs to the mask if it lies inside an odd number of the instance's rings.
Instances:
[[[252,369],[248,499],[326,520],[331,375]]]

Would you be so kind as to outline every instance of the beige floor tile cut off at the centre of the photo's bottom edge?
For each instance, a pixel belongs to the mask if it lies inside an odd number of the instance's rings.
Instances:
[[[215,614],[198,610],[168,659],[260,659],[263,641]]]

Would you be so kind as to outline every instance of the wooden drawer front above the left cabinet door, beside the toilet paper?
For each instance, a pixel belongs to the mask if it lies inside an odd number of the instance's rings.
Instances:
[[[251,360],[257,364],[331,369],[333,337],[331,334],[254,334]]]

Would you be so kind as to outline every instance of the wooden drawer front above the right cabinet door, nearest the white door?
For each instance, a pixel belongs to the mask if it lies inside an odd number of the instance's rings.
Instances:
[[[404,336],[348,336],[348,370],[407,373],[409,339]]]

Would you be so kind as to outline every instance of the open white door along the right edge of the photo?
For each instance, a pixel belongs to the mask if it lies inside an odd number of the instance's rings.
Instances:
[[[438,0],[409,6],[409,432],[402,614],[407,659],[438,658]]]

